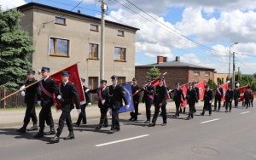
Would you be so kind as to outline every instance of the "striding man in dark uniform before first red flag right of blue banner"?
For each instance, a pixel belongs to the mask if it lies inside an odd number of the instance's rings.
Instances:
[[[163,80],[163,78],[160,78],[160,81]],[[166,125],[166,95],[167,95],[167,89],[164,85],[157,85],[154,88],[154,117],[152,119],[152,123],[149,124],[149,126],[154,126],[157,120],[157,117],[159,115],[159,111],[161,108],[161,114],[163,117],[163,123],[162,125]]]

